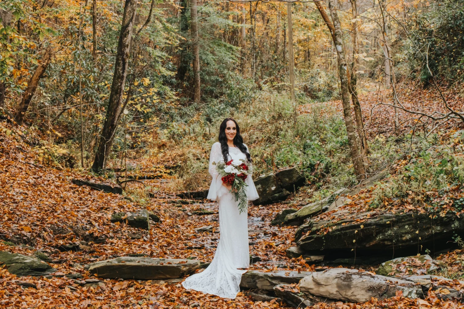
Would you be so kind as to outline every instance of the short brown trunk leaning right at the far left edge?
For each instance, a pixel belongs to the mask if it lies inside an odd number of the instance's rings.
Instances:
[[[44,53],[37,69],[35,69],[34,74],[32,75],[31,79],[27,83],[26,91],[23,94],[21,103],[19,104],[18,111],[14,116],[14,120],[19,124],[22,125],[24,121],[24,115],[26,114],[27,108],[29,107],[29,103],[31,103],[32,96],[37,89],[37,85],[39,85],[39,81],[45,73],[48,65],[52,61],[53,50],[52,47],[49,46]]]

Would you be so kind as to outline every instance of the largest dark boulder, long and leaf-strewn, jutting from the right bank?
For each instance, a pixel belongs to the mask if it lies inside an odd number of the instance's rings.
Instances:
[[[454,234],[464,234],[463,216],[459,218],[451,212],[444,216],[418,212],[339,215],[343,219],[335,223],[309,221],[298,227],[296,245],[306,252],[324,254],[326,258],[332,253],[345,258],[355,254],[356,257],[372,256],[373,252],[405,256],[417,253],[418,248],[419,252],[445,249]]]

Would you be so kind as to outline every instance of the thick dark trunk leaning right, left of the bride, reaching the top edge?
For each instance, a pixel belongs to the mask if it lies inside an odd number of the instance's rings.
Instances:
[[[114,135],[121,118],[125,104],[123,104],[124,85],[126,83],[127,69],[129,67],[130,41],[134,27],[137,0],[125,0],[124,14],[122,16],[121,31],[116,53],[115,70],[111,84],[110,99],[106,110],[106,119],[103,125],[97,153],[92,170],[101,171],[111,153]],[[127,101],[126,101],[127,102]]]

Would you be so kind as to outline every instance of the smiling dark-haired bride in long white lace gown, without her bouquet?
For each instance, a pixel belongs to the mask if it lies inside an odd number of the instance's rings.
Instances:
[[[219,142],[213,144],[209,157],[209,173],[213,177],[207,198],[219,201],[219,244],[213,262],[202,272],[194,274],[182,282],[186,289],[217,295],[223,298],[235,298],[240,291],[240,280],[250,266],[248,248],[247,211],[238,211],[238,202],[230,193],[232,187],[222,182],[216,164],[230,160],[244,160],[249,164],[245,183],[248,201],[258,199],[258,192],[251,179],[252,165],[250,151],[243,144],[238,124],[232,118],[226,118],[219,126]]]

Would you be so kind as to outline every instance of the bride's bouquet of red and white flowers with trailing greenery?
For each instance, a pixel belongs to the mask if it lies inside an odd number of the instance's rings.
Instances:
[[[243,160],[230,160],[228,162],[219,163],[216,170],[222,176],[222,182],[232,185],[231,193],[235,196],[235,202],[238,202],[238,210],[240,214],[246,211],[248,200],[246,199],[245,183],[248,177],[248,165]]]

